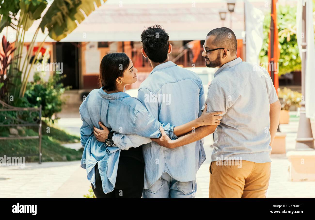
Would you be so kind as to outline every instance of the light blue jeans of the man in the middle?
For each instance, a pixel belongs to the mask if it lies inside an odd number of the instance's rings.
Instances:
[[[143,198],[195,198],[196,180],[180,182],[163,173],[150,188],[143,190]]]

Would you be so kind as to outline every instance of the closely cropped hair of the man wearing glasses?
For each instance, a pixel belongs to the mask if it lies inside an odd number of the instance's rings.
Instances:
[[[207,36],[215,36],[212,42],[215,46],[228,49],[232,55],[236,55],[237,39],[234,32],[227,27],[219,27],[210,31]]]

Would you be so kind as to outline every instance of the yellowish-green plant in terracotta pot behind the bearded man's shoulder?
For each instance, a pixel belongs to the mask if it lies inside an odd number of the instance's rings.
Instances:
[[[289,124],[289,109],[291,106],[301,107],[302,94],[284,87],[278,91],[278,96],[283,101],[279,124]]]

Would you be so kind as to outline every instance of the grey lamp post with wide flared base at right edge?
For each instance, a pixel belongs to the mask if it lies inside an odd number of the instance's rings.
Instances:
[[[306,36],[306,4],[303,6],[302,11],[302,33]],[[309,45],[313,47],[314,45]],[[309,150],[314,149],[314,138],[312,134],[311,121],[309,118],[306,118],[305,114],[305,71],[306,71],[306,37],[302,38],[302,101],[300,108],[300,120],[299,120],[299,128],[297,131],[296,138],[296,150]]]

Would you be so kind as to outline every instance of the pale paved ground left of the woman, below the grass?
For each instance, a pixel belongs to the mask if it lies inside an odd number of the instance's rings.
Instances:
[[[0,198],[84,198],[90,183],[80,161],[0,167]]]

